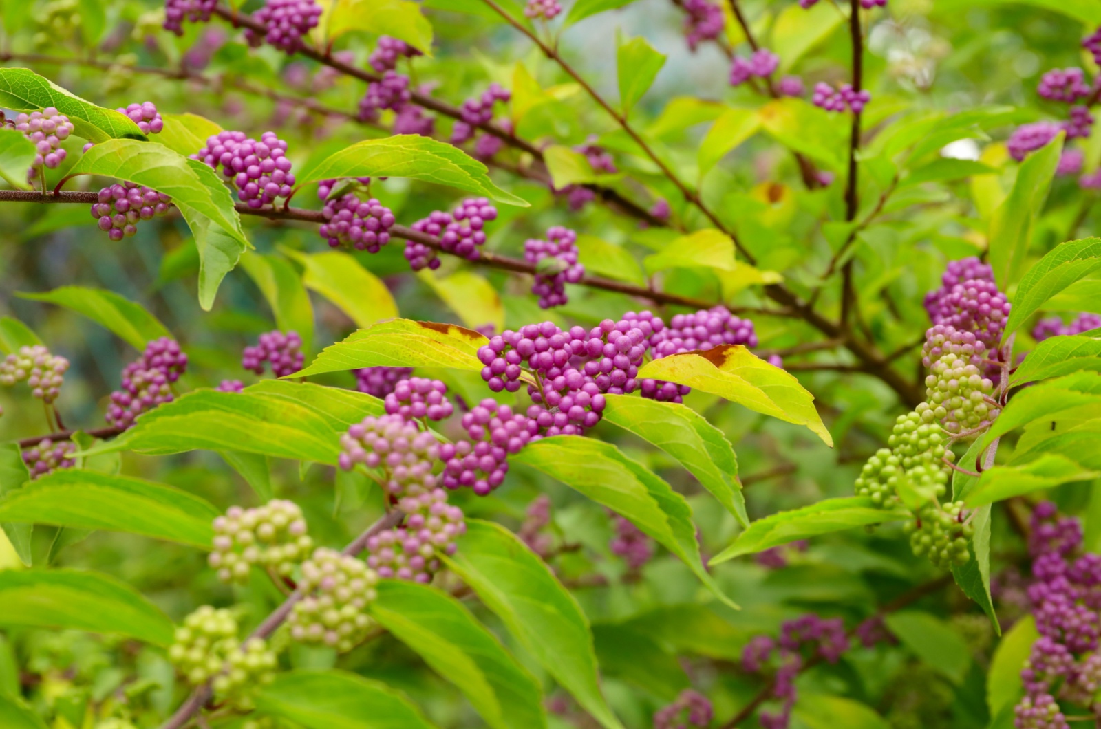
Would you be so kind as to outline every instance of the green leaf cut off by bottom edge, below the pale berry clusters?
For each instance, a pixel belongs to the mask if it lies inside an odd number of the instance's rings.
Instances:
[[[257,695],[263,714],[307,729],[433,729],[405,696],[345,671],[290,671]]]

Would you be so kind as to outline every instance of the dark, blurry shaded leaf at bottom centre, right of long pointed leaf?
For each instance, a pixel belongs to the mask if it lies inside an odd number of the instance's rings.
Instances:
[[[671,704],[682,690],[690,688],[677,656],[650,633],[630,625],[602,624],[592,627],[592,638],[604,673],[630,681]]]

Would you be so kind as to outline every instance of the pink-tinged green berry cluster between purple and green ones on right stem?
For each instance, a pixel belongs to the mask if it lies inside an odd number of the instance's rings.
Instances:
[[[949,433],[972,431],[998,416],[998,407],[986,401],[994,392],[994,383],[963,357],[947,352],[933,362],[929,371],[925,378],[926,399],[934,420],[944,423]]]

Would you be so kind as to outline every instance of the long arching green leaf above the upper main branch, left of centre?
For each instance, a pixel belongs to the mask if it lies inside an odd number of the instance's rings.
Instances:
[[[494,185],[481,162],[446,142],[417,134],[357,142],[296,177],[298,186],[334,177],[408,177],[528,207],[525,200]]]

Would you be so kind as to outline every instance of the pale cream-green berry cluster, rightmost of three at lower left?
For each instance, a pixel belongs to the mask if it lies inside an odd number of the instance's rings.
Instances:
[[[321,643],[344,653],[356,648],[371,628],[363,609],[374,599],[375,572],[356,557],[319,547],[302,563],[298,589],[306,595],[295,603],[287,625],[291,638]]]

